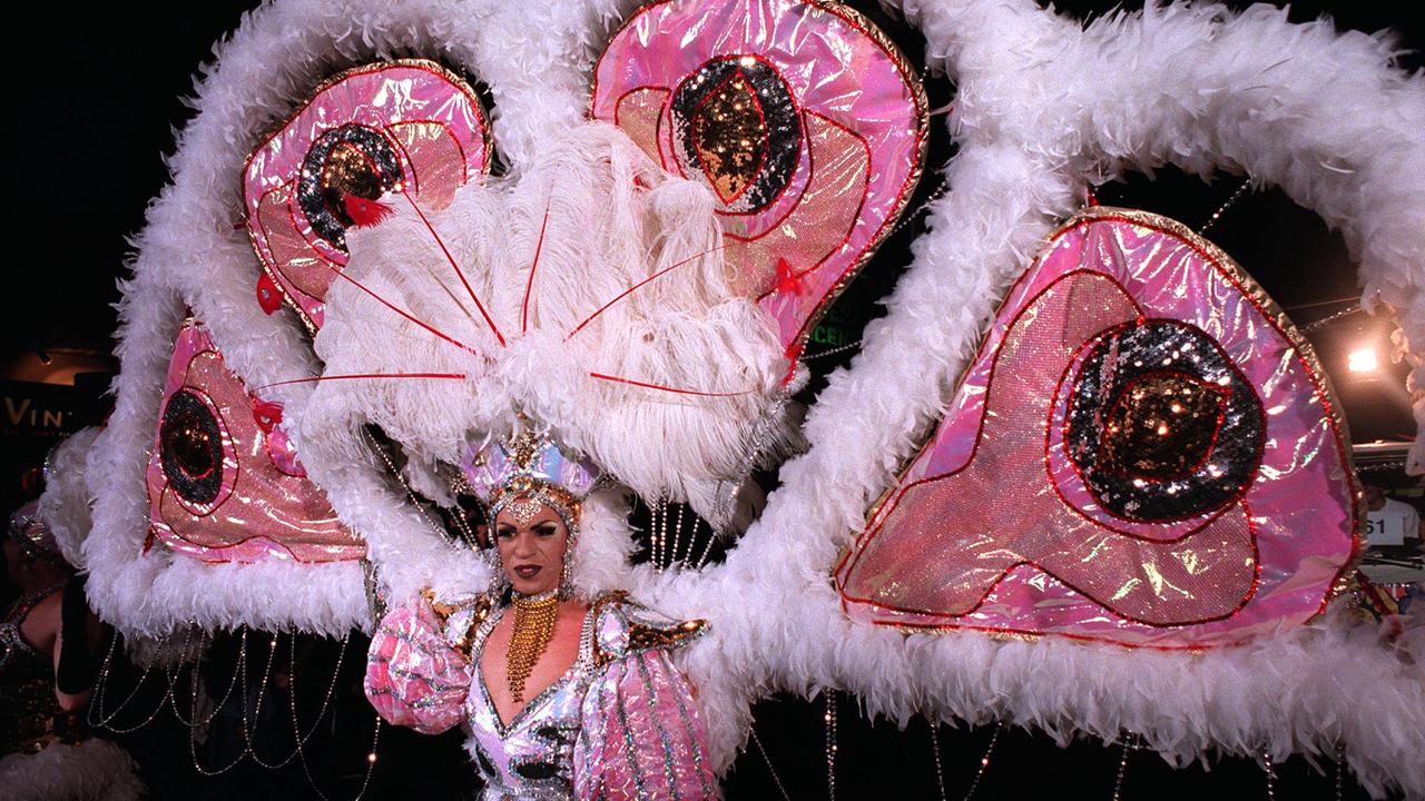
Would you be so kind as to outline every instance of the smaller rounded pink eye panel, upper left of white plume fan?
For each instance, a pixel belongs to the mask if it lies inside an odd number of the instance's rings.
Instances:
[[[398,192],[436,211],[489,171],[489,157],[480,100],[432,61],[370,64],[322,84],[244,168],[264,308],[271,314],[281,292],[315,332],[326,288],[346,265],[348,198]]]

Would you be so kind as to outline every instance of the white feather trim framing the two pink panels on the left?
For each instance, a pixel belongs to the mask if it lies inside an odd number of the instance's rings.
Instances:
[[[148,529],[144,467],[185,309],[204,321],[227,365],[248,386],[319,372],[296,319],[286,312],[265,316],[254,301],[259,265],[237,225],[242,218],[237,175],[262,133],[323,77],[412,48],[465,64],[489,81],[497,101],[494,135],[517,171],[534,160],[540,141],[581,120],[596,31],[617,10],[607,0],[537,7],[497,0],[289,0],[247,16],[219,43],[215,64],[195,86],[198,115],[170,158],[172,184],[148,208],[134,239],[134,278],[123,285],[117,402],[86,470],[94,529],[83,560],[93,572],[88,591],[100,616],[145,636],[164,636],[190,621],[298,626],[329,634],[369,623],[355,564],[209,567],[141,550]],[[264,392],[264,399],[281,402],[298,433],[309,395],[311,386],[291,385]],[[319,449],[294,439],[311,477],[353,530],[408,532],[406,539],[419,544],[409,554],[415,563],[440,564],[446,574],[472,569],[425,544],[426,522],[386,485],[369,450],[338,455],[342,466],[322,470]],[[440,572],[428,577],[439,582]]]

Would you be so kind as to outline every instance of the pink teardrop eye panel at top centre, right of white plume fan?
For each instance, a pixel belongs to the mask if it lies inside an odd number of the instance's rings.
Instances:
[[[670,0],[594,68],[593,115],[718,200],[728,281],[789,355],[871,257],[921,177],[919,78],[832,3]]]

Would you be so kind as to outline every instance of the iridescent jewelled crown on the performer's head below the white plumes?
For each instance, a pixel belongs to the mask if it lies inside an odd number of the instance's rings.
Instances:
[[[549,432],[527,426],[504,442],[472,448],[460,469],[492,522],[506,507],[516,520],[527,522],[543,503],[563,517],[570,533],[577,530],[580,503],[600,476],[597,465],[564,452]]]

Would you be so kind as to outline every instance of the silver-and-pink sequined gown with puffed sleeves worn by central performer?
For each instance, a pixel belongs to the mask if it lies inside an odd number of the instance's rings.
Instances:
[[[395,609],[372,639],[366,697],[383,718],[418,731],[462,723],[486,801],[718,797],[691,688],[668,657],[700,624],[621,596],[596,601],[574,664],[504,724],[473,667],[502,613],[469,637],[467,613],[442,629],[425,603]]]

